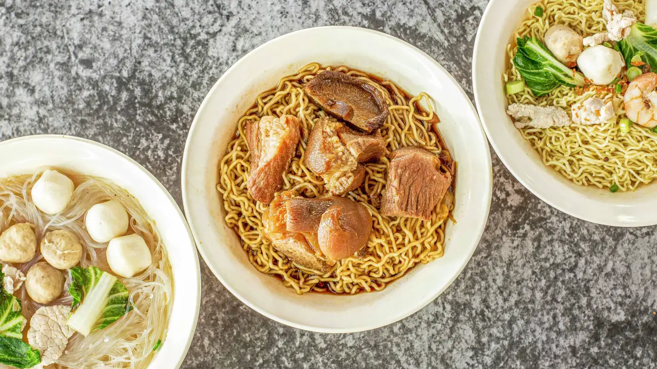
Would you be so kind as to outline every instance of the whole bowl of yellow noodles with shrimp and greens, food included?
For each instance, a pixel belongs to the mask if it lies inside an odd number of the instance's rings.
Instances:
[[[636,49],[656,32],[650,3],[492,0],[477,33],[474,95],[495,152],[533,194],[585,221],[657,223],[657,133],[645,118],[657,75]]]

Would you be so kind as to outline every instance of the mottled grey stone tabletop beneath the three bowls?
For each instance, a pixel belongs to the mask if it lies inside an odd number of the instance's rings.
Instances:
[[[373,28],[442,63],[472,98],[486,0],[0,0],[0,139],[77,135],[125,152],[181,203],[196,108],[231,64],[302,28]],[[0,158],[1,160],[1,158]],[[463,274],[413,316],[314,334],[252,311],[202,265],[183,368],[654,368],[657,236],[547,206],[493,154],[486,232]]]

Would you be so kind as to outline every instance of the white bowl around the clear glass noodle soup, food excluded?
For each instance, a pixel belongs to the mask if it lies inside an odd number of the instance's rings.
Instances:
[[[194,239],[166,188],[124,154],[78,137],[38,135],[0,142],[0,158],[0,178],[57,167],[109,179],[139,200],[160,230],[174,275],[168,335],[148,367],[179,368],[196,329],[201,278]]]

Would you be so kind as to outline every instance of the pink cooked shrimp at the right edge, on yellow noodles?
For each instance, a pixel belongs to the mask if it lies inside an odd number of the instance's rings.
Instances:
[[[633,79],[625,91],[625,114],[644,127],[657,125],[657,74],[646,73]]]

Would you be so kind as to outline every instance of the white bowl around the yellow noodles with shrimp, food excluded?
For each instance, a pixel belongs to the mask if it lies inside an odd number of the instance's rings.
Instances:
[[[564,213],[585,221],[620,227],[657,224],[657,187],[641,186],[635,192],[609,192],[578,186],[546,167],[506,114],[502,74],[506,48],[527,7],[536,0],[491,0],[474,42],[472,83],[480,118],[497,156],[533,194]]]

